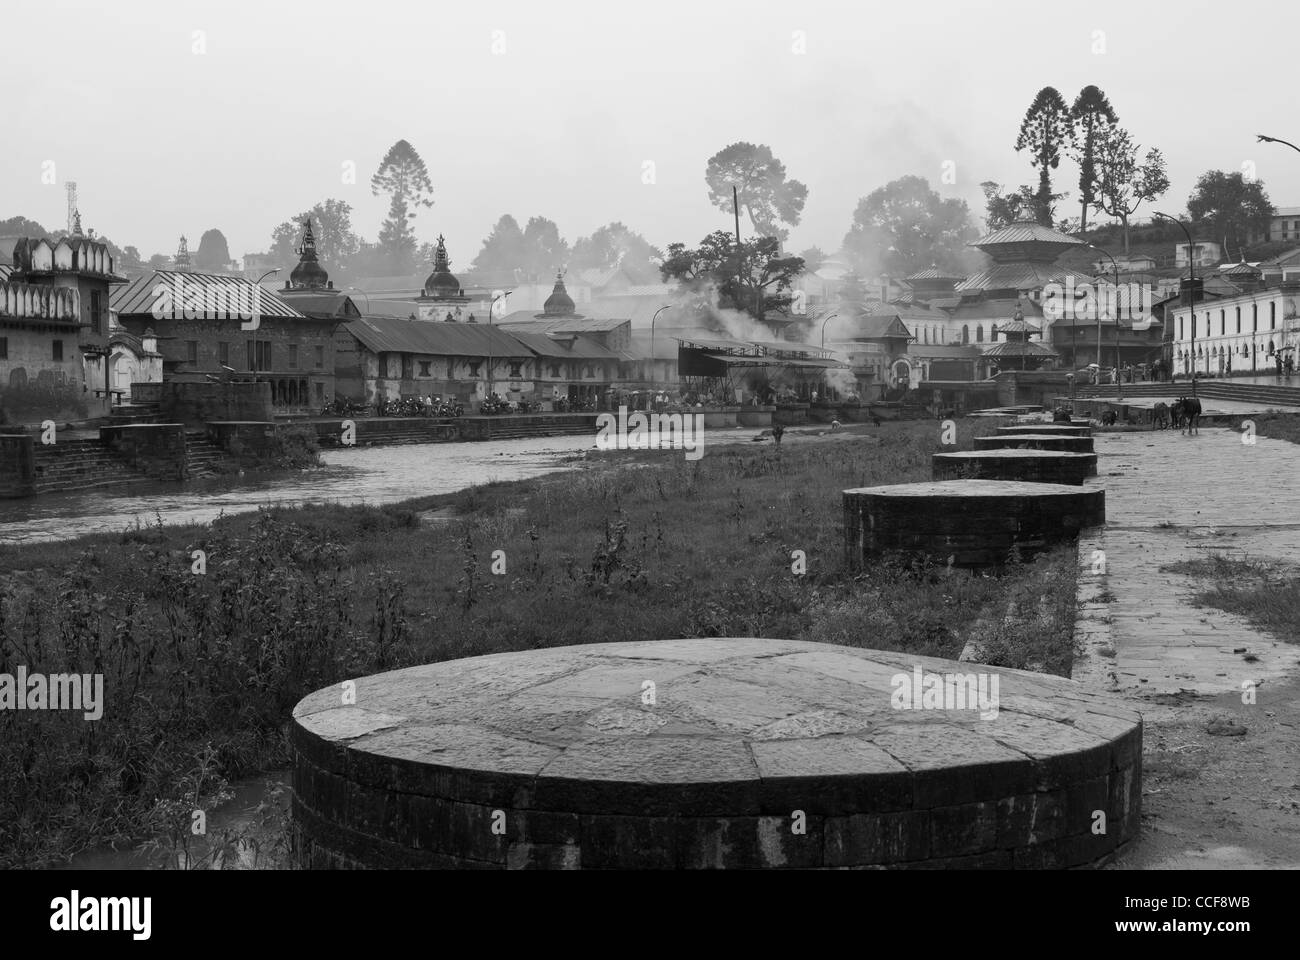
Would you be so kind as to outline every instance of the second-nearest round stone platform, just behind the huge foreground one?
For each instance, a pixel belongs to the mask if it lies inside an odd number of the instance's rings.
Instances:
[[[1102,489],[1015,480],[942,480],[844,492],[845,562],[859,570],[905,552],[954,566],[1008,562],[1106,520]]]

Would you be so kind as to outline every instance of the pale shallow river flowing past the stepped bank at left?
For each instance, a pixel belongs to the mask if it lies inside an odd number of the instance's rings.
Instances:
[[[191,483],[47,493],[0,501],[0,544],[68,540],[150,524],[208,523],[222,513],[300,503],[393,503],[454,493],[494,480],[526,480],[572,468],[590,436],[477,444],[415,444],[325,450],[322,470],[273,480],[221,477]]]

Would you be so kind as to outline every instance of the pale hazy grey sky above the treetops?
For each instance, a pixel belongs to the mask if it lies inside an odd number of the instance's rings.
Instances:
[[[285,3],[100,0],[0,9],[0,219],[82,219],[144,256],[220,228],[233,256],[325,198],[374,239],[369,178],[408,139],[464,269],[502,213],[572,242],[621,220],[651,242],[728,226],[703,182],[733,140],[809,186],[794,250],[838,247],[861,196],[915,173],[982,213],[979,182],[1035,183],[1013,148],[1037,90],[1096,83],[1160,147],[1182,211],[1206,169],[1253,163],[1300,206],[1295,3]],[[196,40],[195,31],[204,31]],[[1100,31],[1100,33],[1097,33]],[[196,44],[205,52],[195,52]],[[494,52],[494,44],[499,52]],[[798,53],[801,47],[806,49]],[[46,161],[57,185],[43,185]],[[346,163],[356,182],[344,183]],[[654,182],[646,183],[646,161]],[[944,163],[957,182],[941,183]],[[1076,215],[1074,164],[1058,189]],[[1141,212],[1139,213],[1141,216]],[[745,226],[748,232],[748,225]]]

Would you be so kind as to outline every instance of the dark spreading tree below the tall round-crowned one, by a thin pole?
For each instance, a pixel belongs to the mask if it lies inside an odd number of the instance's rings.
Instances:
[[[729,230],[715,230],[699,246],[670,243],[660,267],[664,281],[676,280],[682,293],[716,291],[718,306],[742,311],[759,321],[768,311],[788,313],[792,285],[803,272],[798,256],[783,256],[775,237],[736,243]]]

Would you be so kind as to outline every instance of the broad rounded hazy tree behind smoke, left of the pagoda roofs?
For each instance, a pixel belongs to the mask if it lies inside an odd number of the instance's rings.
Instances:
[[[861,273],[905,277],[931,265],[959,269],[974,239],[965,200],[942,199],[924,177],[900,177],[861,200],[844,251]]]

